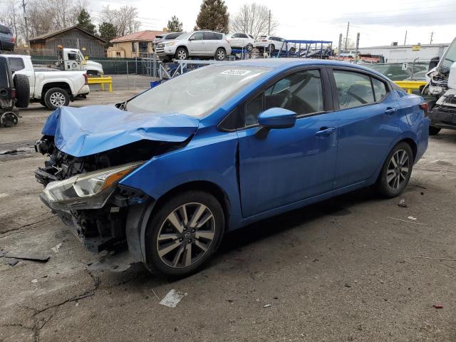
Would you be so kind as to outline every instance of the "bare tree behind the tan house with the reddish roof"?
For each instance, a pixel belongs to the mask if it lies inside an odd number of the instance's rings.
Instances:
[[[115,26],[117,36],[136,32],[140,29],[141,23],[136,20],[138,9],[134,6],[122,6],[120,9],[110,9],[109,5],[103,7],[100,21],[111,23]]]

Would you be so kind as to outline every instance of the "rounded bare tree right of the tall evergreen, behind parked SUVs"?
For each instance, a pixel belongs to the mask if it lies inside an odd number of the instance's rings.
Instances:
[[[268,31],[272,34],[279,24],[272,15],[269,23],[269,13],[266,6],[256,2],[244,4],[239,12],[230,18],[230,31],[249,33],[254,38],[268,34]]]

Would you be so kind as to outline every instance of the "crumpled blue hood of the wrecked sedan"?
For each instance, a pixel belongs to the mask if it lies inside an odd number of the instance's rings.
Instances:
[[[139,140],[182,142],[199,120],[177,113],[132,113],[114,105],[60,107],[48,116],[42,134],[53,135],[56,147],[84,157]]]

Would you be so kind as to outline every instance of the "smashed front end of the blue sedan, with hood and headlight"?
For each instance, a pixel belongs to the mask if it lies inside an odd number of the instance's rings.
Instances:
[[[41,199],[90,252],[131,248],[142,261],[139,247],[130,246],[138,239],[128,237],[126,227],[132,212],[142,212],[154,199],[120,181],[152,157],[187,145],[196,129],[197,120],[184,115],[143,115],[113,106],[58,108],[36,143],[36,151],[49,157],[35,172],[45,186]]]

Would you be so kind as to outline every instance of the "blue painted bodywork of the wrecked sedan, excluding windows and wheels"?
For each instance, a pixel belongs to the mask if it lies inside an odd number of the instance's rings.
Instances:
[[[152,157],[120,184],[159,199],[188,182],[209,182],[227,197],[228,229],[372,185],[400,140],[413,141],[415,161],[427,148],[428,120],[419,107],[423,98],[395,89],[381,103],[299,117],[294,127],[272,129],[265,139],[255,136],[258,128],[221,131],[217,125],[228,113],[291,68],[349,67],[390,83],[380,73],[335,61],[269,58],[227,63],[271,71],[201,119],[148,116],[112,106],[62,108],[48,118],[43,134],[55,135],[57,147],[75,156],[141,139],[182,142],[192,137],[182,148]],[[388,108],[395,108],[394,113],[385,114]]]

